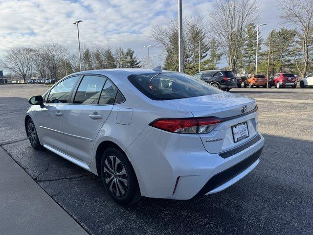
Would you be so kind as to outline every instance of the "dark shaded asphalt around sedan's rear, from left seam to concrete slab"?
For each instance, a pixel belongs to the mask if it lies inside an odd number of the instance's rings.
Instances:
[[[129,207],[115,204],[99,177],[28,140],[3,148],[91,234],[313,234],[313,142],[264,137],[260,164],[232,187]]]

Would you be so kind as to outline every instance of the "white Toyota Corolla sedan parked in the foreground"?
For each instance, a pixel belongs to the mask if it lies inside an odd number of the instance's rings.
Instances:
[[[74,73],[29,103],[31,145],[101,176],[120,204],[219,192],[264,145],[254,99],[159,68]]]

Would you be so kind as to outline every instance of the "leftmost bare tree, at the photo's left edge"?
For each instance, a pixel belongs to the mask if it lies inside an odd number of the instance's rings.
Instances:
[[[12,47],[7,50],[0,60],[0,67],[20,75],[24,82],[31,76],[31,68],[34,59],[34,50],[29,47]]]

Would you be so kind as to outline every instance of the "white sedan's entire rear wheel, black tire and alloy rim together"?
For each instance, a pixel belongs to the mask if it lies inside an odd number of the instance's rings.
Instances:
[[[130,205],[140,200],[140,189],[133,166],[120,149],[112,147],[104,151],[101,158],[101,178],[116,203]]]

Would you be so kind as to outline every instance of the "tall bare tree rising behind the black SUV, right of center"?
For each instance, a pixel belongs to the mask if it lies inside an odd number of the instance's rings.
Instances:
[[[215,0],[209,12],[213,36],[223,48],[229,69],[236,71],[241,49],[245,42],[245,30],[254,23],[260,4],[258,0]]]

